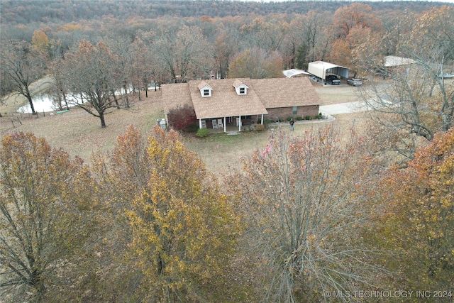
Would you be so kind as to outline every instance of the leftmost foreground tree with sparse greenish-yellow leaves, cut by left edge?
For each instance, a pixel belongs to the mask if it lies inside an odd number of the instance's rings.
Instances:
[[[74,287],[94,224],[82,160],[31,133],[0,147],[0,299],[52,302]],[[77,276],[77,275],[76,275]],[[77,279],[76,279],[77,280]]]

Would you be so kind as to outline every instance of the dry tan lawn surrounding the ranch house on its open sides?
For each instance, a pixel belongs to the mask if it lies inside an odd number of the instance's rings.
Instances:
[[[336,101],[356,101],[351,87],[316,87],[323,104],[333,104]],[[339,97],[340,94],[343,97]],[[82,109],[71,109],[64,114],[39,114],[35,118],[29,114],[4,115],[0,118],[1,136],[6,133],[31,132],[37,137],[45,138],[54,148],[63,148],[70,155],[78,155],[89,160],[92,153],[101,151],[109,153],[116,144],[118,135],[124,133],[128,126],[135,126],[145,136],[156,125],[156,120],[164,118],[160,92],[149,92],[148,98],[142,93],[142,100],[132,96],[131,108],[111,109],[106,115],[106,128],[101,128],[98,118]],[[365,118],[365,114],[345,114],[336,116],[333,123],[340,128],[351,127],[353,119],[358,121]],[[18,119],[21,121],[19,123]],[[304,136],[307,128],[324,127],[326,123],[302,123],[295,125],[292,136]],[[276,128],[276,127],[275,127]],[[289,131],[289,126],[279,126]],[[270,141],[270,128],[263,132],[244,132],[238,135],[226,134],[211,135],[208,138],[196,138],[194,134],[183,134],[187,148],[194,151],[206,163],[211,172],[219,177],[232,170],[240,169],[241,159],[248,157],[254,150],[263,150]]]

